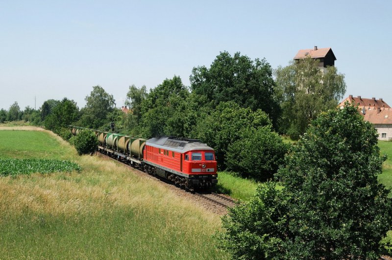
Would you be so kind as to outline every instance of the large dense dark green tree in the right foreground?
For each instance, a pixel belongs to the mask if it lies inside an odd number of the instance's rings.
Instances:
[[[279,170],[284,189],[261,187],[223,219],[226,248],[245,259],[378,259],[392,199],[377,180],[385,160],[377,138],[348,103],[321,113]]]

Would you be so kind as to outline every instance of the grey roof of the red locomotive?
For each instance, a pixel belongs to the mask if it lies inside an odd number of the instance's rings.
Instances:
[[[195,150],[214,151],[214,149],[201,143],[199,140],[182,139],[171,136],[161,136],[148,139],[146,145],[181,153]]]

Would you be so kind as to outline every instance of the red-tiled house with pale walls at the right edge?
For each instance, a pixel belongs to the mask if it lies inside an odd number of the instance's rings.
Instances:
[[[392,140],[392,108],[382,98],[376,100],[361,96],[354,98],[349,95],[340,103],[339,107],[343,108],[345,102],[358,106],[364,120],[373,124],[377,130],[379,140]]]

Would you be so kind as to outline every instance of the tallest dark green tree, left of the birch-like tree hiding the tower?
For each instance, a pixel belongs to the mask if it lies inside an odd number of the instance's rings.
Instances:
[[[252,61],[239,52],[231,56],[224,51],[210,68],[195,67],[190,80],[192,92],[205,96],[214,107],[233,101],[242,108],[262,109],[274,126],[280,116],[272,69],[265,59]]]

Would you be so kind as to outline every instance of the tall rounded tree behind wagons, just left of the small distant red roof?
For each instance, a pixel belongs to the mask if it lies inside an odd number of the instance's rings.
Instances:
[[[102,87],[95,86],[85,100],[86,107],[82,109],[82,124],[88,128],[98,129],[108,123],[107,114],[116,106],[113,95],[109,95]]]

